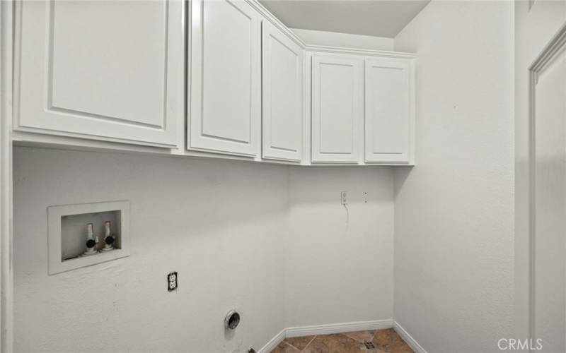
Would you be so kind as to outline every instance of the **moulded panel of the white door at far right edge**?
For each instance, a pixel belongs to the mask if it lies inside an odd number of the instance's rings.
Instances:
[[[562,33],[566,40],[566,30]],[[566,351],[566,45],[536,68],[533,330],[542,352]],[[545,54],[543,54],[545,55]],[[549,59],[548,61],[545,61]]]

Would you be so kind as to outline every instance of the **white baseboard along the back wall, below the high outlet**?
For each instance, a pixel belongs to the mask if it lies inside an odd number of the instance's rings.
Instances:
[[[312,325],[287,328],[285,330],[285,337],[328,335],[330,333],[342,333],[362,330],[383,330],[384,328],[392,327],[393,319],[391,318],[386,320],[357,321],[354,323],[330,323],[328,325]]]

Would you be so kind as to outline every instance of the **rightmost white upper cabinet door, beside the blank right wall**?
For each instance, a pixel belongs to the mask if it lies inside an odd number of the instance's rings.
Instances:
[[[412,90],[412,61],[366,59],[366,162],[411,162]]]

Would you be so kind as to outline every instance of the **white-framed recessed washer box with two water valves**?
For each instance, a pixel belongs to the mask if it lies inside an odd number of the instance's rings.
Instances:
[[[129,201],[50,206],[47,223],[50,275],[129,255]]]

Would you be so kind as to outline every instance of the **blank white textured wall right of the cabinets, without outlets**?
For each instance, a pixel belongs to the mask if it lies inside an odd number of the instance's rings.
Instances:
[[[513,337],[514,11],[432,1],[395,37],[417,52],[417,165],[395,170],[395,321],[428,352]]]

